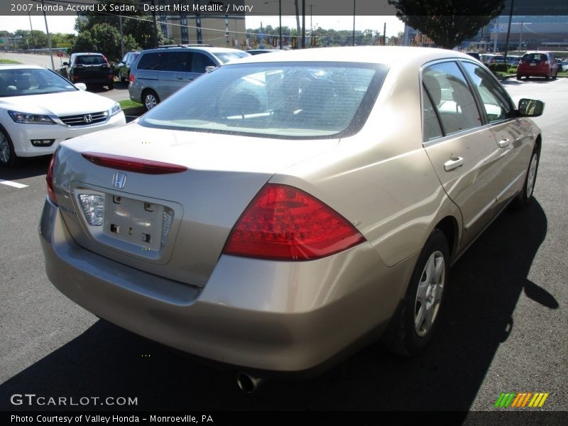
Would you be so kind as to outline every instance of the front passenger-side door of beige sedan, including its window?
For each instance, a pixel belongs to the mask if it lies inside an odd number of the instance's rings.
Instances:
[[[532,138],[526,126],[517,119],[513,101],[495,77],[473,62],[464,61],[461,65],[479,95],[499,150],[501,173],[496,197],[498,212],[523,186]]]

